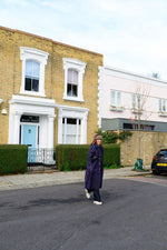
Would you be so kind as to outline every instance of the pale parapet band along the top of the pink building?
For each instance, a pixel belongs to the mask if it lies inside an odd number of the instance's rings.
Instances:
[[[140,83],[167,88],[167,81],[164,81],[164,80],[159,80],[156,78],[150,78],[147,76],[125,71],[121,69],[111,68],[108,66],[99,67],[99,68],[100,68],[100,70],[102,69],[104,73],[108,74],[108,76],[124,78],[124,79],[132,80],[132,81],[140,82]]]

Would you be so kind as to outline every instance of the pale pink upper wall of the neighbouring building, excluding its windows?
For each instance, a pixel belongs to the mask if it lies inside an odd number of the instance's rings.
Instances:
[[[167,116],[159,116],[159,99],[167,99],[167,82],[107,67],[99,69],[99,127],[101,118],[135,119],[131,94],[138,89],[144,96],[147,92],[141,119],[167,122]],[[121,92],[121,112],[110,110],[110,90]]]

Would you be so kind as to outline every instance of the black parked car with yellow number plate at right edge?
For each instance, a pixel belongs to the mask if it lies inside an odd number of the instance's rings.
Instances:
[[[151,170],[154,174],[160,174],[161,172],[167,172],[167,149],[159,150],[153,157]]]

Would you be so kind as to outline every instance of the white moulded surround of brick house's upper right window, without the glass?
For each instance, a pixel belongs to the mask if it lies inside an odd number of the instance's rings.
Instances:
[[[65,70],[63,100],[84,102],[82,86],[84,86],[84,74],[85,74],[86,63],[72,58],[63,58],[62,60],[63,60],[63,70]],[[73,69],[78,71],[78,97],[69,97],[67,94],[68,69]]]

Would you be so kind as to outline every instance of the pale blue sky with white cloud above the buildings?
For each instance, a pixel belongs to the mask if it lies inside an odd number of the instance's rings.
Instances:
[[[0,0],[0,26],[104,54],[167,80],[167,0]]]

